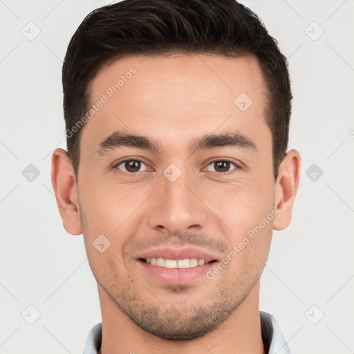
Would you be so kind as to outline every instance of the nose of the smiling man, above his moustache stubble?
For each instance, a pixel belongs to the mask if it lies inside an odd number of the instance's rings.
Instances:
[[[200,231],[205,227],[209,212],[201,189],[188,171],[183,171],[174,181],[161,176],[161,185],[149,210],[150,226],[177,235],[192,229]]]

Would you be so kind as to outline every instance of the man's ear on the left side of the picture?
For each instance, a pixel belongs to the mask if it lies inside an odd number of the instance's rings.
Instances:
[[[75,171],[66,151],[59,148],[52,154],[52,185],[64,229],[82,234]]]

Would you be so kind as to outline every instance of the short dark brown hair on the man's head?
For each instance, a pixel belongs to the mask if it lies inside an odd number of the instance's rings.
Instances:
[[[288,62],[259,17],[234,0],[124,0],[86,16],[71,38],[62,71],[64,118],[66,131],[71,132],[66,143],[76,179],[82,129],[73,133],[71,128],[88,111],[89,86],[100,68],[122,55],[172,53],[257,58],[268,93],[264,113],[272,132],[277,179],[288,147],[292,100]]]

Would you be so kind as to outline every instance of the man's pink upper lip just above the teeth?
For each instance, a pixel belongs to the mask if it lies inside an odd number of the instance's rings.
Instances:
[[[140,258],[165,258],[165,259],[187,259],[187,258],[197,258],[197,259],[204,259],[205,262],[209,261],[216,261],[217,258],[208,254],[203,250],[198,250],[197,248],[171,248],[171,247],[164,247],[164,248],[154,248],[153,250],[149,250],[144,252],[139,257]]]

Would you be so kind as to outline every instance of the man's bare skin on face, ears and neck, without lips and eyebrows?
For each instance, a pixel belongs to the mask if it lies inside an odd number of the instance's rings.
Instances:
[[[300,156],[288,151],[274,180],[259,64],[251,56],[124,57],[97,74],[91,102],[131,66],[136,74],[82,130],[77,183],[66,151],[56,149],[52,156],[64,228],[84,234],[97,280],[100,353],[265,353],[259,277],[272,230],[290,224]],[[234,104],[240,93],[252,98],[246,111]],[[97,154],[100,142],[119,129],[157,140],[160,153],[120,147]],[[232,129],[257,149],[189,152],[190,140]],[[140,172],[128,176],[124,163],[113,167],[122,158],[144,162]],[[224,171],[212,163],[223,158],[232,160]],[[174,182],[163,174],[171,163],[182,172]],[[136,259],[156,246],[184,244],[222,260],[273,208],[277,216],[212,280],[202,276],[188,286],[167,286]],[[93,247],[100,234],[111,242],[102,253]]]

